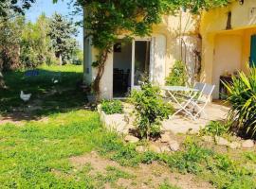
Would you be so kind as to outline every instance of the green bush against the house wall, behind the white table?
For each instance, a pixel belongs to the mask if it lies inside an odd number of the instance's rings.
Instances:
[[[188,75],[185,63],[181,60],[176,60],[169,77],[166,77],[166,85],[185,86],[187,81]]]

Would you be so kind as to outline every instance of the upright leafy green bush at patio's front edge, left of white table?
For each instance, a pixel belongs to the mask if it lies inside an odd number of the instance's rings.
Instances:
[[[141,85],[141,91],[133,91],[130,98],[137,111],[137,129],[142,138],[160,133],[160,121],[168,118],[172,107],[160,96],[160,89],[149,81]]]

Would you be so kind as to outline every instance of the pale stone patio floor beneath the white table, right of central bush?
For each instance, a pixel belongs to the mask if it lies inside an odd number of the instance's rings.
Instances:
[[[210,103],[206,107],[207,117],[201,117],[196,121],[187,118],[183,114],[175,115],[169,120],[163,122],[163,129],[177,133],[196,133],[205,128],[210,121],[225,121],[229,113],[229,107],[222,105],[220,102]]]

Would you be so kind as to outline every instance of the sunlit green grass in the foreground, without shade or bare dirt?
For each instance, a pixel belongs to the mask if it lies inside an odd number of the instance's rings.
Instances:
[[[90,165],[77,169],[69,158],[92,150],[126,167],[139,163],[163,163],[166,170],[192,174],[216,188],[255,188],[254,152],[240,153],[235,161],[188,138],[185,149],[174,154],[137,153],[115,133],[101,127],[97,112],[55,113],[45,121],[28,121],[24,126],[0,127],[1,188],[104,188],[116,187],[120,178],[134,180],[136,175],[108,166],[105,173],[89,174]],[[56,172],[58,174],[56,174]],[[133,173],[133,172],[132,172]],[[141,182],[144,180],[141,180]],[[139,186],[139,183],[136,186]],[[155,188],[178,188],[162,183]]]

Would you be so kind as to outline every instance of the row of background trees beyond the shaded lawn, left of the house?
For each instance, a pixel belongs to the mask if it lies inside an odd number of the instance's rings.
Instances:
[[[17,68],[34,68],[40,64],[57,62],[56,52],[59,46],[52,42],[61,42],[64,49],[64,60],[82,64],[83,53],[70,34],[54,36],[56,27],[50,26],[54,18],[47,18],[43,13],[36,23],[26,22],[24,16],[12,14],[9,19],[0,17],[0,71]],[[67,21],[68,29],[75,30],[74,25]],[[64,26],[65,27],[65,26]],[[63,28],[65,30],[65,28]],[[57,53],[58,54],[58,53]],[[0,86],[5,86],[3,74],[0,72]]]

